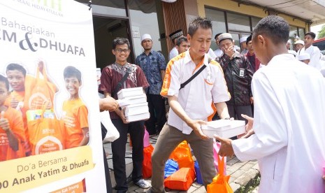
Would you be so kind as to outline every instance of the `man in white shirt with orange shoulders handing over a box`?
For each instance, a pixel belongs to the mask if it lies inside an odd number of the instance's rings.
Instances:
[[[221,66],[205,54],[211,44],[212,23],[197,17],[189,24],[187,39],[191,48],[168,62],[161,95],[171,106],[168,122],[161,130],[152,154],[152,189],[164,192],[164,166],[176,146],[186,140],[198,160],[205,187],[216,175],[213,141],[203,134],[213,113],[212,103],[222,119],[229,119],[225,101],[229,101]],[[196,74],[197,76],[191,77]],[[188,83],[183,87],[184,83]]]

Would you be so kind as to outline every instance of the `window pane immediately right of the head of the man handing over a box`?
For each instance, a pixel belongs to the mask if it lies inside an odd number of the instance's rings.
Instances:
[[[205,16],[210,17],[212,21],[212,43],[210,48],[212,50],[217,50],[218,47],[215,43],[215,35],[219,33],[226,33],[226,22],[224,19],[224,12],[211,8],[205,8]]]

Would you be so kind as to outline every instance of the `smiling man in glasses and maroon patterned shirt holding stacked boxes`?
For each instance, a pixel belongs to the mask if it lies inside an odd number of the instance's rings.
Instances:
[[[103,91],[106,97],[113,97],[114,99],[117,99],[117,92],[122,88],[142,87],[140,90],[144,93],[143,90],[149,84],[143,71],[135,64],[127,62],[130,54],[129,40],[127,38],[115,38],[112,52],[115,55],[115,62],[103,69],[99,90]],[[120,108],[110,112],[110,118],[120,133],[120,138],[112,142],[113,169],[117,183],[115,190],[122,193],[127,192],[128,189],[125,172],[125,145],[128,132],[132,141],[133,183],[142,188],[150,187],[150,183],[143,180],[142,176],[143,136],[145,133],[143,122],[128,122],[128,117],[125,117],[124,110]]]

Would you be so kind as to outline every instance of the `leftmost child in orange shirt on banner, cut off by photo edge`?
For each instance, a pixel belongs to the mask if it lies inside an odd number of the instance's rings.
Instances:
[[[10,95],[8,79],[0,75],[0,162],[24,157],[22,141],[26,141],[19,111],[5,105]]]

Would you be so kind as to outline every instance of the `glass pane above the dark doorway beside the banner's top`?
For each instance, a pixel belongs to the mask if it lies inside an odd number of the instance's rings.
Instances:
[[[78,0],[80,3],[88,3],[88,0]],[[127,16],[125,3],[122,0],[92,0],[92,12],[101,15]]]

